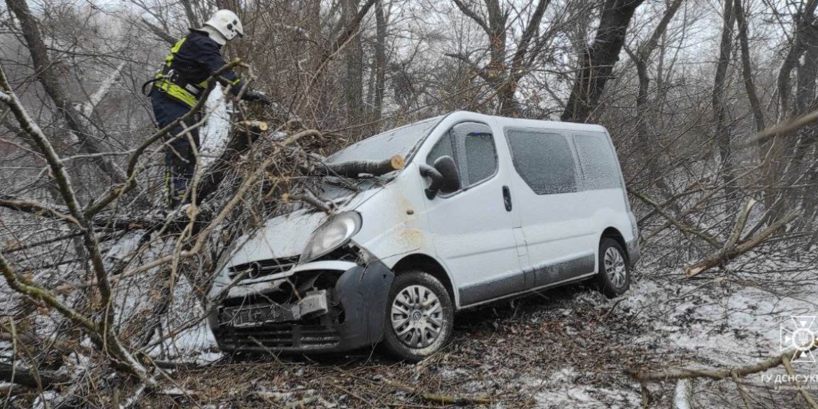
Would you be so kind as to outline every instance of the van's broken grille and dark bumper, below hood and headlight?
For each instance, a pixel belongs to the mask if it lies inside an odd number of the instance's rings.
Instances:
[[[236,287],[211,317],[223,351],[335,352],[376,344],[393,272],[383,263],[308,263],[287,277]],[[234,294],[236,295],[236,294]]]

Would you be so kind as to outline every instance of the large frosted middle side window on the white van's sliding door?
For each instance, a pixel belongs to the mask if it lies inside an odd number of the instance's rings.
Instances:
[[[571,145],[557,133],[528,129],[506,132],[511,161],[517,173],[537,195],[577,191],[577,167]]]

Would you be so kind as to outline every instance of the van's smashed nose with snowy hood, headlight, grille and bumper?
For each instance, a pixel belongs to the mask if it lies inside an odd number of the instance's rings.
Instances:
[[[334,352],[377,343],[394,274],[349,240],[356,220],[355,212],[299,211],[272,219],[265,234],[245,242],[213,289],[226,291],[209,317],[219,348]],[[294,254],[298,242],[307,245]],[[294,255],[264,255],[269,249]]]

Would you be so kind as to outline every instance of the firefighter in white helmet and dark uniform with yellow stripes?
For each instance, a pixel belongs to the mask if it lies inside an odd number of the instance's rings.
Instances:
[[[216,11],[200,29],[190,31],[187,37],[170,49],[170,55],[165,59],[162,69],[155,79],[149,81],[153,85],[148,95],[160,129],[196,106],[208,85],[206,80],[227,64],[222,57],[222,46],[236,37],[244,36],[239,17],[229,10]],[[243,81],[232,70],[222,71],[218,81],[224,86],[230,85],[231,92],[235,95],[244,88]],[[272,102],[263,92],[250,89],[245,90],[243,99],[261,101],[267,105]],[[179,133],[198,120],[200,112],[183,124],[173,127],[166,136],[166,139],[173,138],[165,151],[165,188],[171,208],[180,205],[187,197],[187,185],[196,169],[191,139],[196,147],[199,146],[198,130],[193,129],[181,136]]]

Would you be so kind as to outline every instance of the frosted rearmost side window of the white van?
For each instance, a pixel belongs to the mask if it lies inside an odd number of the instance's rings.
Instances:
[[[616,157],[605,133],[581,133],[573,135],[582,169],[584,190],[622,187]]]

